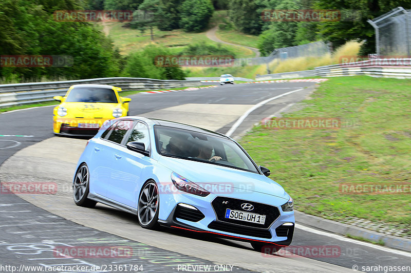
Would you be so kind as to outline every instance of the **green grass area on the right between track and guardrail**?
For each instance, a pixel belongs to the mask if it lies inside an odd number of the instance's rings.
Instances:
[[[411,181],[411,80],[335,77],[286,117],[334,117],[339,130],[256,127],[241,140],[254,160],[294,198],[299,211],[333,220],[350,217],[394,227],[411,224],[411,193],[343,194],[339,185]]]

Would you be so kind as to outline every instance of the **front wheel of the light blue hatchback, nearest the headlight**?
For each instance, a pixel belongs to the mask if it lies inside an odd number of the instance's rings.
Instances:
[[[157,183],[153,180],[145,182],[141,188],[137,204],[137,219],[141,227],[158,228],[159,201]]]

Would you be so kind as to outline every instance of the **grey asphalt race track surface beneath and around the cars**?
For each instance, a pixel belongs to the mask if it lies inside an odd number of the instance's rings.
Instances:
[[[231,136],[235,137],[244,134],[262,118],[301,101],[312,92],[314,85],[313,82],[255,83],[136,94],[129,96],[132,98],[130,115],[168,119],[227,133],[255,104],[298,90],[252,111],[234,131],[231,130]],[[300,257],[284,251],[267,256],[253,251],[248,243],[175,229],[160,232],[142,229],[135,216],[101,204],[94,209],[78,207],[72,201],[69,185],[86,140],[54,137],[51,111],[52,107],[42,107],[0,115],[0,181],[49,181],[57,183],[60,189],[53,195],[0,194],[0,272],[12,271],[10,267],[1,267],[6,265],[16,266],[20,272],[40,271],[20,268],[21,265],[94,265],[101,266],[97,271],[142,269],[143,272],[184,269],[202,272],[353,272],[355,265],[359,270],[362,266],[410,265],[409,253],[327,235],[298,225],[298,219],[293,246],[336,246],[341,253],[334,257]],[[122,247],[131,249],[132,255],[100,259],[56,255],[55,249],[73,246]],[[121,270],[120,265],[123,266]],[[206,270],[208,267],[200,265],[211,267]]]

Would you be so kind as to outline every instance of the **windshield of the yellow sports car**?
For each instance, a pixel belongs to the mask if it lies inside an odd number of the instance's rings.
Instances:
[[[73,88],[67,96],[66,102],[108,102],[117,103],[113,89],[78,87]]]

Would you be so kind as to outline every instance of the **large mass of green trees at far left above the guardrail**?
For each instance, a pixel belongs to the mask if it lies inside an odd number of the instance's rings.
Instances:
[[[80,9],[76,2],[3,0],[0,2],[0,55],[65,55],[67,67],[3,67],[0,77],[95,78],[118,76],[121,57],[90,23],[56,22],[54,10]]]

